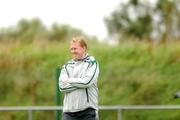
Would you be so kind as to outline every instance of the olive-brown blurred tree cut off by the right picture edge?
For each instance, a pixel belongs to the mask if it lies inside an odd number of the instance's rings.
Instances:
[[[166,42],[180,37],[179,0],[158,0],[155,12],[159,14],[158,25],[161,40]]]

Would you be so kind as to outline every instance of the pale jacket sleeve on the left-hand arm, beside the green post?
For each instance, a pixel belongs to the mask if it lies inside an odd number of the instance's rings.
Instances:
[[[65,66],[63,66],[59,76],[59,89],[61,92],[71,92],[77,89],[76,86],[73,86],[68,82],[68,79],[69,79],[69,73],[65,68]]]

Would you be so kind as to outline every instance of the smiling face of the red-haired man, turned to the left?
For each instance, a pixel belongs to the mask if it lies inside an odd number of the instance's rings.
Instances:
[[[70,51],[75,60],[82,59],[86,52],[85,48],[81,47],[79,42],[71,42]]]

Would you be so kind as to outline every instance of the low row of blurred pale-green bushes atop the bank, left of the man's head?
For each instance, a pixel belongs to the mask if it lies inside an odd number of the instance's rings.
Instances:
[[[66,24],[53,23],[46,27],[39,18],[21,19],[17,25],[0,28],[0,42],[68,41],[73,36],[93,37]]]

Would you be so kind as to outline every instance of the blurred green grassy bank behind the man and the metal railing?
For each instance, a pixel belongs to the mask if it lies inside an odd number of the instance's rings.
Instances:
[[[180,47],[123,43],[116,47],[89,43],[100,64],[100,105],[177,105],[180,90]],[[70,59],[67,43],[0,44],[0,106],[49,106],[55,102],[55,70]],[[179,110],[124,111],[123,120],[178,120]],[[24,112],[0,112],[0,119],[23,120]],[[36,112],[33,117],[55,119]],[[101,111],[100,120],[117,119],[116,111]]]

